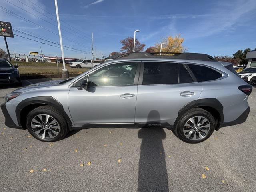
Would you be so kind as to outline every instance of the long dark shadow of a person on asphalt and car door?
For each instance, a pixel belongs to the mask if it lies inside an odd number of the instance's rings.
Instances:
[[[159,112],[150,111],[148,122],[160,122]],[[168,192],[168,174],[162,140],[166,133],[162,128],[141,128],[138,138],[142,138],[138,171],[138,192]]]

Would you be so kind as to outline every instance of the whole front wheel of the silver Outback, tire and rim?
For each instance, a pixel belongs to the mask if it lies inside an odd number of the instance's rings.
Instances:
[[[64,116],[52,106],[40,106],[30,111],[26,126],[34,138],[45,142],[60,140],[68,133]]]

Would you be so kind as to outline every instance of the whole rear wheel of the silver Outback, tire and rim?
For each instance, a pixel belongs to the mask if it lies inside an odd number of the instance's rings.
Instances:
[[[176,135],[184,142],[200,143],[212,135],[214,128],[212,114],[202,108],[193,108],[180,118]]]

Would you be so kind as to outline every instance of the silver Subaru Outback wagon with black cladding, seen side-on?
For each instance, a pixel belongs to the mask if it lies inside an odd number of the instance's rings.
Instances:
[[[5,124],[36,139],[60,140],[71,130],[167,128],[188,143],[243,123],[248,85],[233,64],[206,54],[124,54],[76,78],[32,84],[6,95]]]

